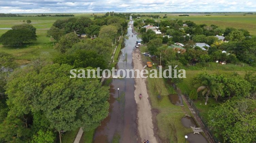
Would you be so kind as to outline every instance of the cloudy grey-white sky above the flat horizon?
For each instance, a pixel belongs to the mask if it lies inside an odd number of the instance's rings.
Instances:
[[[0,13],[255,12],[256,0],[0,0]]]

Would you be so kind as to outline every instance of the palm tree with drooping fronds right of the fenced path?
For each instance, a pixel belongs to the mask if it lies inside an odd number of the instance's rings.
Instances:
[[[197,92],[202,91],[202,95],[205,95],[205,105],[210,95],[214,96],[217,101],[218,96],[221,96],[222,85],[216,82],[215,77],[203,75],[199,77],[199,82],[201,86],[198,87]]]

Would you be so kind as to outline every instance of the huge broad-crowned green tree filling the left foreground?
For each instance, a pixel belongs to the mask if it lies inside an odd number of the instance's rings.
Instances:
[[[14,74],[6,89],[9,113],[42,113],[60,139],[63,131],[98,127],[108,114],[108,87],[101,86],[97,78],[69,78],[71,69],[53,64],[39,73],[27,68]]]

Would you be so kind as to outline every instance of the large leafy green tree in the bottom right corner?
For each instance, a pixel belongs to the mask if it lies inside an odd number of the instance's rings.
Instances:
[[[208,112],[208,125],[223,142],[249,143],[256,140],[256,102],[252,99],[228,100]]]

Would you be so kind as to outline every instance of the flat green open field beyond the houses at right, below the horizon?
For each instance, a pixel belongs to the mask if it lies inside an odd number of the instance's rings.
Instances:
[[[193,21],[196,24],[211,24],[220,26],[221,28],[234,27],[237,29],[247,29],[251,35],[256,35],[256,14],[245,14],[243,13],[136,13],[140,15],[159,15],[162,17],[159,20],[173,20],[181,19],[183,21]],[[166,14],[167,18],[163,19]],[[178,16],[187,14],[189,16]],[[210,16],[206,16],[210,15]],[[142,17],[145,18],[145,17]],[[157,20],[157,19],[156,19]]]

